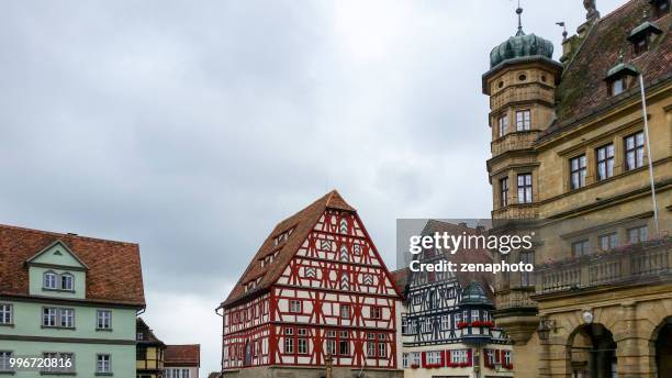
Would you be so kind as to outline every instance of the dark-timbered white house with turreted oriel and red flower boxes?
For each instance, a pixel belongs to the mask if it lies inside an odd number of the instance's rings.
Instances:
[[[429,221],[423,235],[473,235],[484,229]],[[402,367],[406,378],[513,377],[511,342],[494,324],[492,273],[459,271],[461,264],[491,264],[488,249],[456,254],[423,249],[422,264],[451,262],[458,271],[393,273],[403,288]],[[419,265],[417,265],[419,266]]]

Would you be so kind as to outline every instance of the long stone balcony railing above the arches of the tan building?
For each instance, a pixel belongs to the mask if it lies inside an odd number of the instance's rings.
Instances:
[[[650,241],[537,267],[536,293],[672,278],[672,240]]]

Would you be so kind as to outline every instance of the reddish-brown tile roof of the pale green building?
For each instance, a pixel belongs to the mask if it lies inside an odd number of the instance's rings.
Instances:
[[[57,241],[88,267],[87,301],[145,307],[137,244],[10,225],[0,225],[0,294],[27,297],[25,262]]]

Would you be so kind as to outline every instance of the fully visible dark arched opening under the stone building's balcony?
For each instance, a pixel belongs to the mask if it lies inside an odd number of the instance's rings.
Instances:
[[[578,326],[569,338],[568,356],[572,378],[617,377],[616,342],[603,324]]]

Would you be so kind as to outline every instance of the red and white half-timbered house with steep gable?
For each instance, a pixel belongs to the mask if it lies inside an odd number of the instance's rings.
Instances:
[[[280,222],[220,305],[222,370],[401,377],[401,296],[357,211],[332,191]]]

